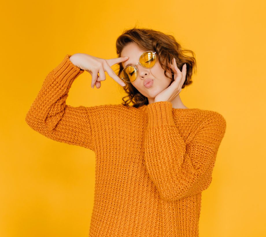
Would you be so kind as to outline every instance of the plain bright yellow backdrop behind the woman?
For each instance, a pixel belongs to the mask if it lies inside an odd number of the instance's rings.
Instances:
[[[53,141],[25,116],[46,75],[66,54],[115,58],[124,29],[173,34],[196,54],[189,108],[226,121],[210,187],[202,193],[200,237],[265,236],[265,1],[5,1],[1,4],[0,236],[88,236],[95,153]],[[112,66],[114,69],[115,66]],[[66,103],[121,103],[106,73],[84,72]]]

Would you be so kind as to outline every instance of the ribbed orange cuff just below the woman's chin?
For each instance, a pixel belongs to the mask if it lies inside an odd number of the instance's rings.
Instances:
[[[158,101],[146,105],[148,114],[148,127],[171,125],[174,126],[172,115],[172,103],[168,101]]]

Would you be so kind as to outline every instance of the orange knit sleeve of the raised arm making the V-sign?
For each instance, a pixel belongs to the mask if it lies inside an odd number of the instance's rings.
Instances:
[[[32,129],[48,138],[94,150],[90,107],[66,105],[71,84],[84,72],[69,60],[70,56],[67,54],[46,76],[25,121]]]

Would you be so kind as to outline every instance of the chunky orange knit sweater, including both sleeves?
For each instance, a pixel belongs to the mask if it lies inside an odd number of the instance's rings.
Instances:
[[[168,101],[66,105],[84,70],[64,60],[45,78],[27,124],[95,152],[89,236],[199,236],[202,191],[212,180],[226,121],[218,112],[174,109]]]

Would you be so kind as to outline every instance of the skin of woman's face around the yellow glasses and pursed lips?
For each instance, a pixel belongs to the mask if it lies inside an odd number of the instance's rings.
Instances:
[[[145,50],[147,51],[147,50]],[[134,42],[128,43],[122,52],[121,57],[128,56],[128,60],[122,62],[123,67],[127,64],[134,66],[139,62],[141,54],[145,51],[140,49]],[[145,97],[149,99],[154,99],[161,91],[165,90],[171,83],[171,79],[167,78],[164,74],[164,69],[162,69],[158,56],[156,55],[156,63],[152,68],[145,68],[141,64],[137,64],[135,67],[138,68],[137,78],[134,82],[131,82],[132,85]],[[171,74],[167,72],[167,75],[171,77]],[[151,87],[146,88],[144,86],[145,79],[153,79],[153,84]],[[130,82],[126,82],[130,83]],[[149,100],[150,101],[150,100]]]

